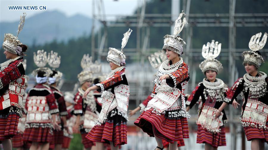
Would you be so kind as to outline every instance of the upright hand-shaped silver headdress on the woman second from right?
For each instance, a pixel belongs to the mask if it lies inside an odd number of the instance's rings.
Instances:
[[[219,56],[221,52],[222,44],[219,42],[215,42],[214,40],[207,43],[207,45],[203,45],[202,47],[202,56],[205,58],[199,65],[199,68],[205,74],[208,70],[219,72],[219,69],[222,69],[222,63],[215,58]]]

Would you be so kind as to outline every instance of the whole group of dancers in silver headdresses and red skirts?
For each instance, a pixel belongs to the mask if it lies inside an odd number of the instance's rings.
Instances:
[[[243,99],[241,123],[251,149],[264,149],[268,143],[268,87],[267,74],[259,67],[264,63],[259,50],[266,41],[267,33],[252,36],[249,51],[243,52],[246,74],[229,89],[216,78],[222,64],[216,59],[221,44],[212,40],[202,47],[205,60],[199,67],[205,78],[194,91],[184,93],[190,79],[189,67],[183,61],[184,40],[177,36],[187,23],[181,13],[175,22],[173,35],[164,36],[162,52],[149,56],[149,62],[158,68],[152,94],[137,108],[129,111],[132,116],[142,113],[134,124],[157,142],[156,150],[174,150],[184,146],[189,138],[188,113],[199,105],[197,120],[197,143],[205,143],[206,150],[226,146],[224,108],[240,105],[236,97]],[[60,56],[44,50],[34,53],[38,66],[32,72],[36,85],[28,93],[28,77],[25,75],[26,61],[23,56],[27,46],[18,40],[24,22],[21,17],[17,36],[5,34],[2,44],[8,59],[1,63],[0,72],[0,143],[4,150],[18,149],[68,149],[73,133],[80,133],[84,149],[119,149],[127,144],[128,102],[130,87],[125,75],[123,48],[132,32],[124,33],[121,50],[109,48],[107,61],[111,72],[103,77],[99,63],[89,55],[81,60],[82,72],[78,74],[80,87],[63,94],[57,85],[62,73]],[[183,18],[183,19],[182,19]],[[260,40],[261,39],[261,40]],[[23,61],[24,60],[24,61]],[[48,64],[50,67],[45,67]],[[12,142],[11,142],[11,140]]]

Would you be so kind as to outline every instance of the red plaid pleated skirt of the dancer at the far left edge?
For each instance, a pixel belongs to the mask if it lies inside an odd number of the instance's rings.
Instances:
[[[17,134],[19,115],[15,112],[0,114],[0,143],[13,138]]]

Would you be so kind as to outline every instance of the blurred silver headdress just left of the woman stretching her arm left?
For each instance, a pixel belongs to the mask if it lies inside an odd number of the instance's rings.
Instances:
[[[80,85],[85,81],[92,79],[92,72],[90,66],[92,65],[92,57],[89,57],[89,54],[84,54],[81,60],[82,71],[77,75]]]

